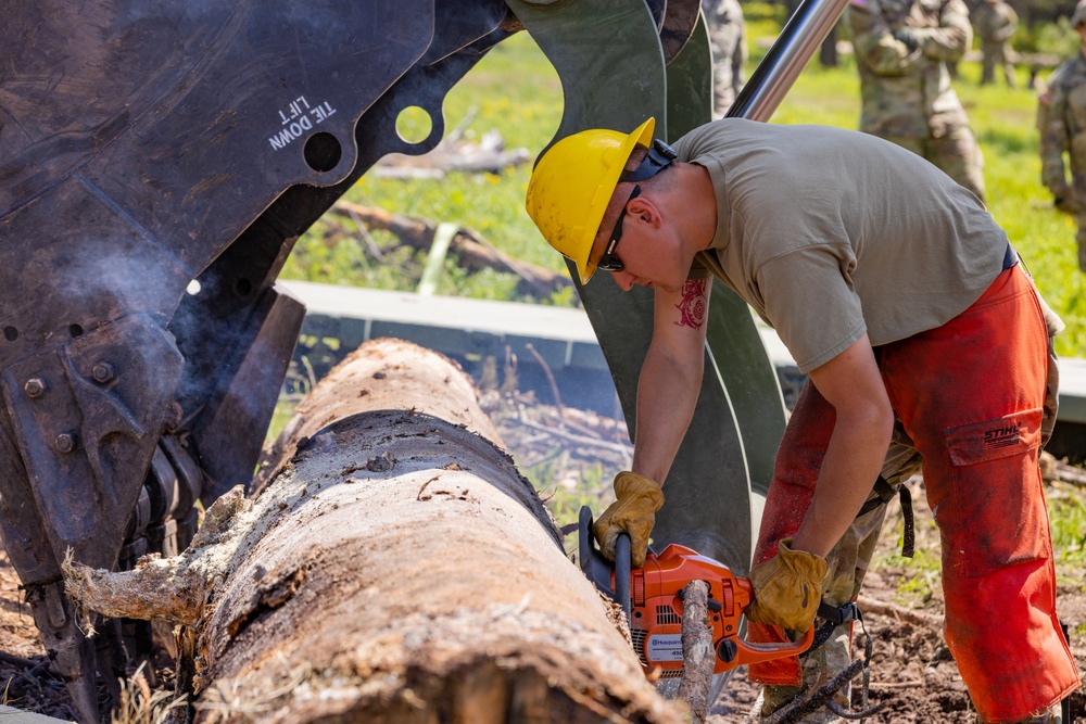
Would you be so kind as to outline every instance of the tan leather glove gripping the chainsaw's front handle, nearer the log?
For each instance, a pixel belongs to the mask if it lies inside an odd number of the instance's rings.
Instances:
[[[604,515],[592,525],[604,556],[615,560],[619,533],[630,534],[630,564],[640,568],[648,552],[648,534],[656,523],[656,511],[664,507],[664,491],[654,481],[635,472],[615,475],[615,497]]]

